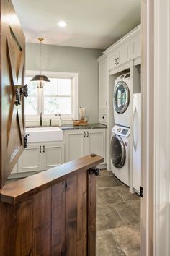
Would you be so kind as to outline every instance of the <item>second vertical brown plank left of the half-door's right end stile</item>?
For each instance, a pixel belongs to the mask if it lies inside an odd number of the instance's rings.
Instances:
[[[77,254],[77,175],[66,180],[66,249],[65,256]]]

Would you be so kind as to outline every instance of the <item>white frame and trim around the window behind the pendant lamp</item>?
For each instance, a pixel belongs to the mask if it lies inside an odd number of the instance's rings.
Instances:
[[[26,70],[25,76],[32,77],[35,74],[39,74],[40,71],[35,70]],[[54,78],[71,78],[72,79],[72,88],[71,88],[71,95],[72,95],[72,102],[71,102],[71,114],[61,114],[63,120],[71,120],[71,119],[78,119],[78,95],[79,95],[79,87],[78,87],[78,76],[79,74],[76,72],[52,72],[52,71],[42,71],[42,74],[46,75],[47,77],[54,77]],[[43,89],[37,89],[37,115],[27,115],[25,114],[26,121],[39,121],[40,113],[42,112],[42,118],[44,121],[48,121],[49,119],[58,120],[59,116],[54,115],[44,115],[43,114],[43,107],[44,107],[44,97],[43,97]]]

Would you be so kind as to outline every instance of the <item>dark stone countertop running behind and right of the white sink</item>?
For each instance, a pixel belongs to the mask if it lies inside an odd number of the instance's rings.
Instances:
[[[37,126],[27,126],[26,128],[33,128]],[[42,127],[49,127],[49,125],[43,125]],[[51,127],[58,127],[58,125],[52,125]],[[73,124],[63,124],[60,127],[62,130],[67,129],[103,129],[107,128],[107,125],[104,124],[86,124],[86,125],[73,125]]]

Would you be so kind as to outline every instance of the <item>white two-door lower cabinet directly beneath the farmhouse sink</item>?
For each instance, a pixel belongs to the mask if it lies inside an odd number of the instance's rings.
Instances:
[[[44,171],[64,163],[63,142],[29,143],[18,161],[18,172]]]

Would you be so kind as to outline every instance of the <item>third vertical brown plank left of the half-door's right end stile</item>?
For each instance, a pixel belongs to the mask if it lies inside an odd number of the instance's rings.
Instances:
[[[65,253],[65,182],[52,187],[52,237],[51,255],[61,256]]]

